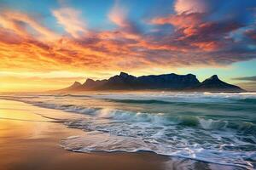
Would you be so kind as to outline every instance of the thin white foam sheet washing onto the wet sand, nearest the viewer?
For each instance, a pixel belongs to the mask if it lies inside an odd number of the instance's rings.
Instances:
[[[147,139],[145,140],[142,138],[116,136],[113,134],[100,133],[96,131],[86,133],[84,136],[72,136],[67,139],[62,139],[61,147],[63,147],[65,150],[85,153],[90,153],[93,151],[152,151],[162,156],[178,156],[197,161],[206,161],[227,166],[243,167],[247,169],[253,169],[253,165],[244,160],[256,158],[256,154],[253,151],[244,154],[229,150],[217,152],[216,150],[206,150],[197,145],[190,145],[188,148],[175,148],[168,144],[160,145],[156,142],[150,142]],[[236,159],[236,157],[239,157],[239,159]]]

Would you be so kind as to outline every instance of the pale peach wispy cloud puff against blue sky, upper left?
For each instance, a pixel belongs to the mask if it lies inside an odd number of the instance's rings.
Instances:
[[[74,8],[59,8],[52,11],[56,20],[65,31],[75,38],[87,33],[85,21],[81,19],[81,12]]]

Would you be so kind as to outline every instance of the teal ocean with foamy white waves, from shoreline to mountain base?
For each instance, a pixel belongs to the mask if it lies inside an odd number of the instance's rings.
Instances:
[[[61,139],[66,150],[144,150],[256,168],[256,93],[2,94],[0,99],[68,112],[41,114],[84,130]]]

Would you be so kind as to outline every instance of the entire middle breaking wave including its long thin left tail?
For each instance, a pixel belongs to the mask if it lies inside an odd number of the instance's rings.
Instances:
[[[108,108],[84,107],[83,105],[57,105],[44,102],[26,103],[39,107],[79,113],[96,118],[122,122],[148,122],[159,126],[180,125],[184,127],[199,127],[205,130],[213,129],[236,129],[240,133],[251,133],[256,136],[256,125],[253,122],[229,122],[224,120],[214,120],[202,116],[193,115],[170,115],[166,113],[143,113],[137,111],[123,111]]]

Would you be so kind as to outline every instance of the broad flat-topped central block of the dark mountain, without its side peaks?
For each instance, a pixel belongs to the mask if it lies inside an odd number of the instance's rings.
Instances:
[[[177,89],[194,87],[200,82],[195,75],[166,74],[160,76],[134,77],[125,72],[108,80],[84,83],[84,88],[97,90],[139,90],[139,89]],[[91,86],[93,84],[93,86]]]

